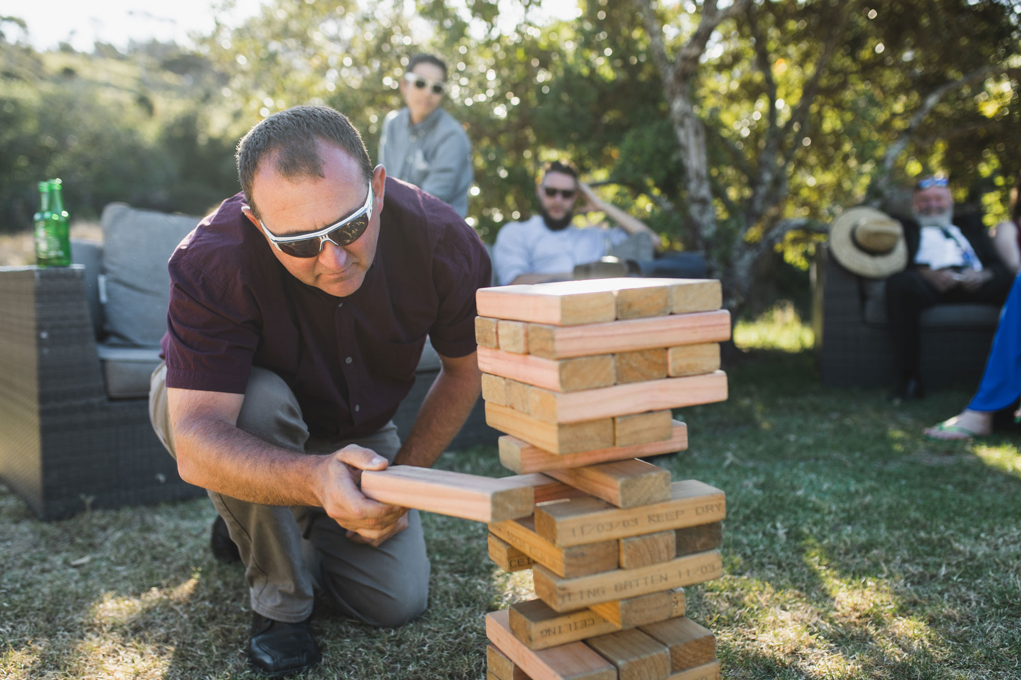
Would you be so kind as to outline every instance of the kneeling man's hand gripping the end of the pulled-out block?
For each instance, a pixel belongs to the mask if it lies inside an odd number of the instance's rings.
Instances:
[[[358,489],[361,471],[385,470],[386,458],[355,444],[323,458],[320,500],[326,514],[348,530],[348,538],[379,545],[407,528],[406,507],[377,502]]]

